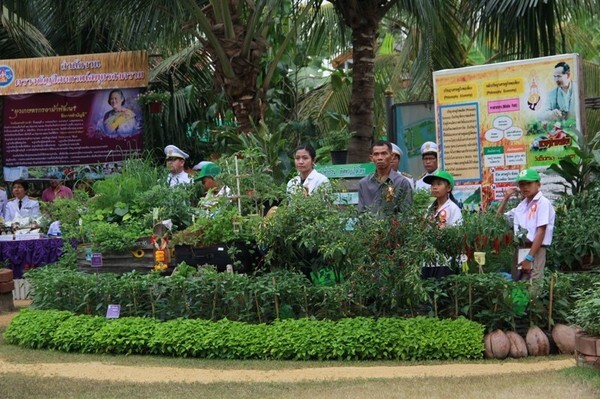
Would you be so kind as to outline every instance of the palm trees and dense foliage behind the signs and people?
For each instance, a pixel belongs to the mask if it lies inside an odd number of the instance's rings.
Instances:
[[[432,97],[438,69],[579,51],[598,61],[598,0],[4,0],[3,58],[146,49],[151,84],[171,92],[147,143],[206,156],[223,131],[290,125],[318,141],[347,115],[348,159],[383,132],[383,92]],[[353,68],[328,59],[351,49]],[[590,71],[593,66],[588,67]],[[591,72],[589,72],[591,73]],[[588,79],[588,96],[597,82]],[[594,118],[588,117],[590,120]],[[597,119],[597,118],[596,118]],[[338,124],[338,125],[336,125]],[[202,144],[206,143],[206,144]],[[219,145],[221,145],[219,144]]]

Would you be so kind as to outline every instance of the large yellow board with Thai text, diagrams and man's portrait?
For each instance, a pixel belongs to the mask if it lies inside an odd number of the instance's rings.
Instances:
[[[581,77],[577,54],[434,72],[441,166],[467,209],[501,200],[524,168],[541,173],[545,193],[560,189],[545,171],[575,156],[569,146],[584,122]]]

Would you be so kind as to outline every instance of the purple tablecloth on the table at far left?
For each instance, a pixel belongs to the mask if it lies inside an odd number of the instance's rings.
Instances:
[[[25,270],[54,263],[62,254],[62,238],[0,241],[0,262],[7,262],[14,278],[22,278]]]

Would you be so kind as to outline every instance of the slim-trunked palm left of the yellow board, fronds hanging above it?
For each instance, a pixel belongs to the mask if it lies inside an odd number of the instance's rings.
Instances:
[[[430,75],[438,57],[447,57],[463,47],[455,27],[471,37],[480,34],[503,57],[536,57],[556,54],[566,48],[564,26],[582,13],[597,15],[598,0],[524,1],[524,0],[330,0],[343,22],[352,30],[353,86],[350,100],[350,129],[355,131],[349,162],[368,159],[373,139],[374,60],[381,21],[394,10],[403,18],[414,18],[413,27],[421,29],[424,51],[413,57],[415,64],[427,65],[420,74]],[[458,22],[458,24],[457,24]],[[446,36],[452,33],[450,37]],[[448,40],[451,39],[451,40]],[[459,67],[462,65],[454,65]],[[434,67],[434,68],[432,68]],[[448,66],[446,66],[448,67]],[[421,75],[422,76],[422,75]],[[428,80],[431,79],[427,76]]]

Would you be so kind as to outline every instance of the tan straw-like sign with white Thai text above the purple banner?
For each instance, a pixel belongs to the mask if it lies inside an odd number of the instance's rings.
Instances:
[[[145,86],[145,51],[0,60],[0,96]]]

